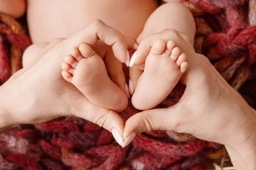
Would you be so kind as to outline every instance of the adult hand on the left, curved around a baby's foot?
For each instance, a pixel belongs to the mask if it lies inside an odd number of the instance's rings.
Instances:
[[[0,87],[0,128],[46,122],[61,116],[78,116],[111,131],[122,145],[124,122],[115,112],[91,103],[61,75],[61,62],[71,48],[95,45],[98,39],[112,46],[113,54],[126,62],[125,37],[96,20],[67,39],[57,39],[29,65],[15,73]],[[120,101],[125,109],[128,99]]]

